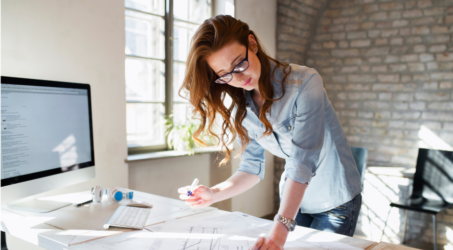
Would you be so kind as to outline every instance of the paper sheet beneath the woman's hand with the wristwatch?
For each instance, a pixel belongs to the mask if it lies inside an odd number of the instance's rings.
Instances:
[[[274,221],[257,218],[241,212],[233,212],[225,215],[199,218],[201,221],[243,221],[247,224],[248,246],[251,247],[258,237],[267,235],[272,228]],[[325,239],[325,235],[318,236],[306,232],[303,227],[296,227],[296,230],[289,233],[285,243],[285,249],[310,249],[310,250],[361,250],[360,248],[345,244],[343,242]]]

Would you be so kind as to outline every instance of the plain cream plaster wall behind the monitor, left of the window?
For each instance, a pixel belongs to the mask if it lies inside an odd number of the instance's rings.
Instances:
[[[92,91],[96,178],[37,197],[128,187],[124,1],[0,3],[2,76],[87,83]]]

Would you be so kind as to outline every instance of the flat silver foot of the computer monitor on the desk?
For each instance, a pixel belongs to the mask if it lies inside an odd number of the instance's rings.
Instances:
[[[6,204],[11,209],[24,210],[36,213],[47,213],[71,205],[70,202],[47,201],[35,199],[33,196],[17,199]]]

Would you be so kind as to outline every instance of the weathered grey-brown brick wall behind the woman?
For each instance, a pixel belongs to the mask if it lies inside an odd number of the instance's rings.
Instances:
[[[419,147],[451,148],[452,0],[278,0],[277,20],[277,59],[320,72],[368,166],[414,167]],[[276,210],[283,167],[276,158]],[[409,227],[432,241],[431,216],[410,213]]]

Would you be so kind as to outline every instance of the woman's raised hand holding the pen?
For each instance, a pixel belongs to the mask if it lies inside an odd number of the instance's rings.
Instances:
[[[186,204],[189,205],[190,208],[205,208],[214,203],[214,192],[209,187],[203,185],[195,186],[192,190],[192,194],[187,196],[189,188],[190,186],[179,188],[178,193],[180,193],[179,198],[185,199]]]

